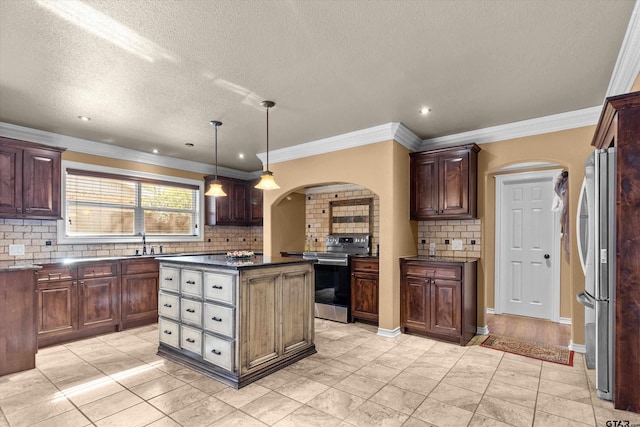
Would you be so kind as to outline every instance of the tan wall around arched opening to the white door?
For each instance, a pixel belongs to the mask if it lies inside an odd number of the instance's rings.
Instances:
[[[482,220],[482,257],[478,270],[478,324],[486,325],[484,307],[494,305],[495,274],[495,180],[496,171],[527,162],[555,163],[569,172],[570,261],[562,257],[560,266],[560,317],[572,319],[572,342],[584,344],[584,307],[575,295],[584,289],[584,274],[576,245],[575,218],[584,178],[584,162],[593,151],[595,126],[526,138],[483,144],[478,155],[478,216]],[[481,307],[482,306],[482,307]]]

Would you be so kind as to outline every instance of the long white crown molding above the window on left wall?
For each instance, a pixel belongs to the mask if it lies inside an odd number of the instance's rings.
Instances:
[[[117,147],[102,142],[90,141],[87,139],[74,138],[72,136],[60,135],[53,132],[45,132],[38,129],[31,129],[17,126],[10,123],[0,122],[0,136],[14,138],[22,141],[45,144],[51,147],[65,148],[69,151],[94,156],[107,157],[118,160],[131,160],[148,165],[162,166],[171,169],[185,170],[204,175],[214,173],[214,166],[206,163],[193,162],[191,160],[177,159],[174,157],[151,154],[143,151],[132,150],[130,148]],[[237,169],[218,166],[218,175],[229,178],[243,180],[255,179],[260,176],[260,171],[244,172]]]

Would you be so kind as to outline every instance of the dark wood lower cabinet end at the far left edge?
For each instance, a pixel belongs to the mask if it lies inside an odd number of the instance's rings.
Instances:
[[[0,272],[0,376],[36,366],[35,291],[33,270]]]

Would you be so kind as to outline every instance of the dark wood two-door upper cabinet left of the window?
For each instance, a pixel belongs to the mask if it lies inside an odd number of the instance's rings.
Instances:
[[[63,151],[0,137],[0,217],[61,218]]]

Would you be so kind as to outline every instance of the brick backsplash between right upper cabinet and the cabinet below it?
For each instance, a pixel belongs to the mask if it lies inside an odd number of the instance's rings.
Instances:
[[[479,219],[418,222],[418,255],[429,256],[429,243],[436,244],[436,256],[480,258],[481,222]],[[449,244],[445,240],[449,239]],[[454,251],[452,241],[462,240],[462,250]],[[475,240],[475,244],[471,244]],[[424,241],[424,243],[422,243]]]

